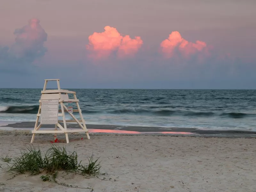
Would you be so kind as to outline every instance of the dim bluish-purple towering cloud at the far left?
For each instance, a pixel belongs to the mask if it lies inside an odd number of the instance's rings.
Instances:
[[[24,67],[44,56],[47,51],[44,42],[47,40],[47,33],[39,24],[38,19],[31,19],[28,25],[14,31],[15,43],[9,48],[0,47],[0,67],[11,70],[13,66]],[[10,68],[10,69],[8,69]]]

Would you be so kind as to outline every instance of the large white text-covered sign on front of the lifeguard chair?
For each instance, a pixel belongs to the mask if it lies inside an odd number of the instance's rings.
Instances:
[[[59,100],[44,99],[41,106],[41,124],[58,124]]]

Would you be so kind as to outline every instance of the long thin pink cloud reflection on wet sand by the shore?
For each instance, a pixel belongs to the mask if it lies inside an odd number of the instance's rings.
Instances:
[[[110,129],[88,129],[91,133],[128,133],[128,134],[183,134],[190,135],[193,134],[191,132],[138,132],[138,131],[124,131],[124,130],[110,130]]]

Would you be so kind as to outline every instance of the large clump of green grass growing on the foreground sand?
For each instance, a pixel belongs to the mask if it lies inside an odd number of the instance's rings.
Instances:
[[[47,174],[57,174],[59,171],[76,172],[82,175],[99,174],[100,162],[99,158],[93,160],[91,156],[87,165],[78,163],[76,151],[68,152],[66,148],[52,145],[50,149],[42,155],[42,151],[36,148],[26,148],[20,151],[21,156],[15,157],[12,163],[8,162],[9,170],[13,174],[24,174],[29,172],[31,175],[36,175],[42,172]],[[47,178],[42,178],[47,180]]]

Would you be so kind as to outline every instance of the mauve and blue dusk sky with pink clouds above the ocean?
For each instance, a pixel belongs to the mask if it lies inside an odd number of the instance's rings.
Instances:
[[[256,89],[255,7],[1,0],[0,88]]]

